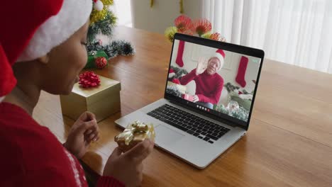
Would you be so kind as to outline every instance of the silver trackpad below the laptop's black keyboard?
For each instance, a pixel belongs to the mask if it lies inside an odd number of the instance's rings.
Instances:
[[[155,142],[156,144],[169,144],[173,142],[177,142],[184,135],[175,130],[165,127],[164,125],[158,125],[155,128]]]

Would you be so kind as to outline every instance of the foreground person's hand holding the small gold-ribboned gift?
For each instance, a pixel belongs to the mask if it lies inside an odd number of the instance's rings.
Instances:
[[[128,187],[139,186],[143,180],[143,160],[153,151],[155,144],[144,140],[128,152],[121,154],[116,147],[106,162],[104,176],[113,176]]]

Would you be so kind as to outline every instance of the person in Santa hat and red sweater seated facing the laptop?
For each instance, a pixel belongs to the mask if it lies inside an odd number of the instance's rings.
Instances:
[[[32,118],[40,91],[70,94],[87,62],[92,0],[4,1],[0,16],[0,186],[87,186],[82,166],[99,139],[93,113],[83,113],[62,145]],[[126,153],[116,148],[96,186],[138,186],[145,140]]]

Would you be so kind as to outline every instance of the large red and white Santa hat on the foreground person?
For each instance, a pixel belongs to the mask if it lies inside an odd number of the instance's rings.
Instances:
[[[16,85],[11,66],[35,60],[65,42],[92,11],[92,0],[15,0],[1,3],[0,102]]]

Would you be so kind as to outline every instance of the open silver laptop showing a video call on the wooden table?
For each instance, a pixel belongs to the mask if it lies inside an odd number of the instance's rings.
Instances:
[[[263,58],[262,50],[176,33],[164,97],[115,123],[153,123],[156,147],[204,169],[248,131]]]

